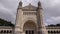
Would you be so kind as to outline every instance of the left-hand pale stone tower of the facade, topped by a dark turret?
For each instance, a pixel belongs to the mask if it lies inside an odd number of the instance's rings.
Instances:
[[[22,34],[22,2],[19,2],[19,6],[17,9],[17,15],[16,15],[16,23],[15,23],[15,32],[14,34]]]

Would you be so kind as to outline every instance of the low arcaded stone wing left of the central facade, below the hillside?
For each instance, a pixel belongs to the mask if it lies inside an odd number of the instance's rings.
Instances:
[[[14,27],[11,26],[0,26],[0,34],[13,34]]]

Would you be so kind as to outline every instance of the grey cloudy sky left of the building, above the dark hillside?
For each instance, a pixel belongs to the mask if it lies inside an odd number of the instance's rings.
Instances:
[[[0,0],[0,18],[15,23],[18,0]]]

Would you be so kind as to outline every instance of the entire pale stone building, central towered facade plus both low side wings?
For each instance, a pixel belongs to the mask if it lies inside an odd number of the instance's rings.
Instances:
[[[31,3],[25,7],[22,4],[20,1],[17,8],[15,27],[1,26],[0,34],[60,34],[60,26],[45,26],[40,1],[37,7]]]

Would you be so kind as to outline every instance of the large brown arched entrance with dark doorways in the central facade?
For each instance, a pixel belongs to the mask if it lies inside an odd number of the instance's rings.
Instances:
[[[31,20],[27,21],[23,26],[23,31],[25,32],[25,34],[36,34],[36,24]]]

